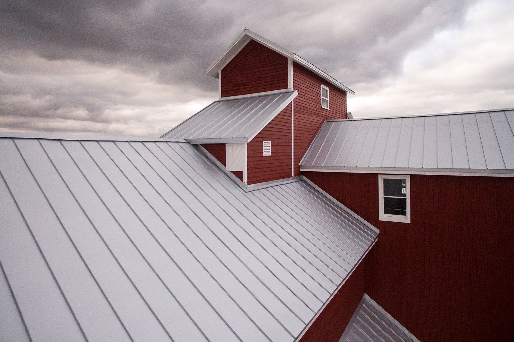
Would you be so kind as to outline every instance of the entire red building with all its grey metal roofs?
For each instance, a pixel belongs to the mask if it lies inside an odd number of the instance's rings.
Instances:
[[[514,109],[353,118],[247,29],[207,75],[161,138],[0,132],[0,340],[514,338]]]

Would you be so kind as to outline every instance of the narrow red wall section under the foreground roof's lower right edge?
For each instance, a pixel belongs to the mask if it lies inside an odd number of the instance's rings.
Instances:
[[[339,341],[364,295],[364,263],[360,263],[300,339]]]

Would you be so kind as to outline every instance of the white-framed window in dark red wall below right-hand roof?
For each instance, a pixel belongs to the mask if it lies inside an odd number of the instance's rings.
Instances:
[[[411,222],[410,177],[407,175],[378,176],[378,219]]]

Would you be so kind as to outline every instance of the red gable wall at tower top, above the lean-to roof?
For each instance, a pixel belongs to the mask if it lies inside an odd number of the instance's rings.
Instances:
[[[287,88],[287,57],[250,41],[222,69],[222,97]]]

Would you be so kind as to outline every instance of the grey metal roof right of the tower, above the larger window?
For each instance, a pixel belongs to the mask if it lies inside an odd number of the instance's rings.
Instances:
[[[514,108],[327,120],[302,170],[514,173]]]

